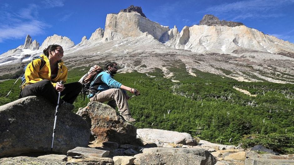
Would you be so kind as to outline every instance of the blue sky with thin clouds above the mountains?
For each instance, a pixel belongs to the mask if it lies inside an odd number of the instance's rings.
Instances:
[[[294,43],[294,0],[0,0],[0,54],[24,44],[29,34],[40,45],[47,36],[67,36],[75,44],[99,27],[108,13],[140,6],[146,17],[170,28],[199,24],[205,14],[242,22]]]

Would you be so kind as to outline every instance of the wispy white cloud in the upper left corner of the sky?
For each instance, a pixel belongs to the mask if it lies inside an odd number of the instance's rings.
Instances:
[[[62,7],[63,0],[44,0],[40,4],[29,4],[27,7],[15,9],[8,3],[0,7],[0,42],[8,39],[19,39],[27,36],[36,36],[50,27],[38,18],[39,10],[50,7]],[[67,19],[71,14],[65,15]]]

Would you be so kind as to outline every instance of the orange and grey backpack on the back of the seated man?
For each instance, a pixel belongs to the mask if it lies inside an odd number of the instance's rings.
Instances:
[[[103,70],[99,65],[94,65],[90,68],[88,73],[86,73],[80,78],[79,83],[82,84],[81,94],[84,94],[84,101],[85,101],[86,95],[90,93],[89,89],[90,89],[91,82],[94,80],[94,77],[98,75],[101,71]]]

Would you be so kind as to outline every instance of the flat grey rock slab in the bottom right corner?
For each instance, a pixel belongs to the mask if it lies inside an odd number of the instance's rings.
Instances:
[[[294,160],[285,159],[245,159],[245,165],[294,165]]]

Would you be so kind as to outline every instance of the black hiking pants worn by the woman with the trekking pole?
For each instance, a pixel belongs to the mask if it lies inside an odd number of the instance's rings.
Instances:
[[[65,89],[60,92],[60,96],[64,96],[62,100],[73,104],[74,100],[78,97],[82,90],[82,84],[79,82],[73,82],[64,84],[64,87]],[[42,80],[34,84],[26,85],[20,96],[43,96],[50,103],[57,105],[58,91],[55,90],[50,80]]]

